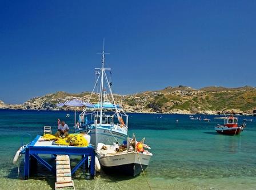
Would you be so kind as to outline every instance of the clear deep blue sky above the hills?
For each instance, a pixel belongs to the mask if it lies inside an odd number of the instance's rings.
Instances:
[[[105,37],[113,89],[255,86],[256,1],[0,1],[0,99],[91,91]]]

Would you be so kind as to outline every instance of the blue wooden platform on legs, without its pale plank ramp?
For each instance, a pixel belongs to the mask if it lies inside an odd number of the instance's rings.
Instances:
[[[71,147],[64,145],[36,145],[39,144],[38,140],[41,138],[38,135],[31,143],[29,143],[25,149],[23,149],[22,153],[25,154],[25,163],[24,163],[24,176],[25,179],[29,179],[29,171],[31,165],[31,159],[36,159],[41,164],[43,164],[47,169],[51,172],[55,172],[55,168],[51,166],[47,161],[43,160],[40,157],[40,154],[43,155],[80,155],[81,160],[77,165],[72,169],[71,174],[75,173],[85,161],[89,160],[89,156],[91,156],[90,160],[90,175],[94,177],[95,175],[95,150],[89,145],[88,147]]]

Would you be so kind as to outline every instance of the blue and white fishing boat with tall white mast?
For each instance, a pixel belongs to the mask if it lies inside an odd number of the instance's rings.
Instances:
[[[105,68],[105,51],[102,52],[102,67],[95,68],[96,78],[93,95],[98,95],[98,103],[87,105],[79,115],[76,132],[86,132],[91,136],[91,144],[97,146],[98,143],[121,144],[127,139],[128,115],[123,111],[121,105],[117,104],[111,89],[112,82],[106,72],[110,68]],[[95,92],[99,85],[99,92]],[[107,93],[109,92],[109,93]],[[88,102],[90,102],[90,99]],[[96,138],[97,136],[97,138]]]

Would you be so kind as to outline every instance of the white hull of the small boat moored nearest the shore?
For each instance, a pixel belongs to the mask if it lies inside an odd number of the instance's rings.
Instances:
[[[102,169],[109,174],[138,176],[146,169],[152,154],[128,152],[118,155],[99,156]]]

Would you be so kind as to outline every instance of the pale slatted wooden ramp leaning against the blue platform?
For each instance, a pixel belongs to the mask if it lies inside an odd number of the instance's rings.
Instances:
[[[57,155],[56,157],[56,183],[55,189],[73,188],[74,181],[71,178],[69,155]]]

